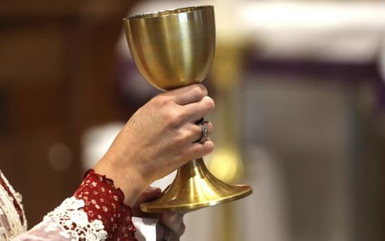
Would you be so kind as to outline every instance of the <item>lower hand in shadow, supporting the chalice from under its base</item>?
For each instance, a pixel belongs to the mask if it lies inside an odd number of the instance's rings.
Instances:
[[[157,198],[161,192],[162,190],[159,188],[148,187],[133,205],[133,216],[140,218],[156,218],[159,220],[156,226],[157,240],[164,240],[168,235],[169,241],[177,241],[186,229],[183,222],[183,215],[177,212],[146,213],[140,210],[140,203],[149,202]]]

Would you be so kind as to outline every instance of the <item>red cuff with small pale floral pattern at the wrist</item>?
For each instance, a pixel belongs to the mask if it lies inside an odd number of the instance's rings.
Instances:
[[[113,185],[113,180],[91,169],[76,190],[74,197],[84,200],[83,211],[89,222],[102,221],[107,240],[136,240],[133,226],[132,210],[124,205],[124,194]]]

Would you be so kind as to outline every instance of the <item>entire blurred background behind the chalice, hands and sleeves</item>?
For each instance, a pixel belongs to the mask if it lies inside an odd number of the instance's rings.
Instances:
[[[384,1],[1,1],[0,169],[29,226],[159,93],[122,17],[197,5],[217,21],[205,160],[254,193],[188,213],[182,240],[385,240]]]

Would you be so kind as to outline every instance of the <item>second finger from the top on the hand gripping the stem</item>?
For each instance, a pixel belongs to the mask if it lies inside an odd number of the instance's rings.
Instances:
[[[204,96],[200,101],[190,103],[181,107],[181,112],[184,112],[187,120],[195,123],[202,116],[207,116],[215,107],[215,103],[209,96]]]

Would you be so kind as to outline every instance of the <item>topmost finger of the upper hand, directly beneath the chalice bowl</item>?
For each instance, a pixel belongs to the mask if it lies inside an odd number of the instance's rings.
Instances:
[[[194,84],[170,90],[165,94],[166,96],[173,98],[173,101],[175,101],[178,105],[186,105],[188,103],[194,103],[201,100],[201,98],[207,96],[208,92],[204,85]]]

